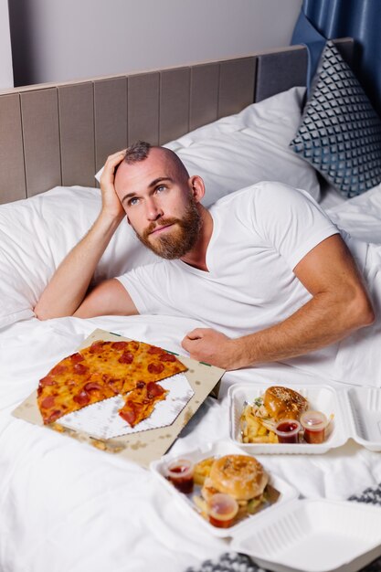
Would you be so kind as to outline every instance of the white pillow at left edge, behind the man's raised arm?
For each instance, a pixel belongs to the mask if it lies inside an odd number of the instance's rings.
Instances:
[[[101,210],[101,192],[56,187],[0,206],[0,327],[34,315],[33,308],[58,264]],[[94,281],[157,260],[123,220],[103,254]]]

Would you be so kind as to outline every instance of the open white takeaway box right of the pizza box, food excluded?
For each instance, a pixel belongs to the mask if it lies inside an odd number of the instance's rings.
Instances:
[[[333,415],[328,438],[319,444],[310,443],[243,443],[240,438],[239,418],[245,402],[252,403],[274,384],[235,384],[229,387],[230,439],[241,450],[249,453],[308,453],[319,454],[341,447],[352,438],[366,449],[381,450],[381,388],[350,387],[335,389],[328,385],[291,387],[305,397],[311,409]],[[280,385],[280,384],[277,384]]]

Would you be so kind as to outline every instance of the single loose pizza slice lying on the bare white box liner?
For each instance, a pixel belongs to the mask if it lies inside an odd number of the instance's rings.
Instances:
[[[119,415],[131,427],[150,417],[158,401],[165,399],[168,391],[159,384],[149,381],[147,384],[139,381],[136,387],[127,395]]]

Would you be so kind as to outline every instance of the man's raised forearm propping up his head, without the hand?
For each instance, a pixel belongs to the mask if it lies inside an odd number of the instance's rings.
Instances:
[[[46,320],[73,314],[89,288],[91,278],[122,218],[101,215],[88,234],[61,262],[37,302],[37,318]]]

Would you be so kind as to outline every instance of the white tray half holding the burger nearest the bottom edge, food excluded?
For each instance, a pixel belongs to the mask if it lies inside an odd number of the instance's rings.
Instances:
[[[182,453],[181,458],[189,459],[193,462],[199,462],[203,459],[206,459],[207,457],[222,457],[224,455],[230,454],[242,455],[246,453],[229,441],[219,441],[214,444],[208,443],[201,449],[190,450],[186,453]],[[229,528],[217,528],[216,526],[213,526],[213,524],[210,524],[208,521],[206,521],[206,519],[200,514],[196,503],[192,501],[192,494],[195,493],[180,493],[177,491],[177,489],[175,489],[174,485],[165,478],[164,474],[166,465],[170,461],[177,458],[179,458],[178,454],[175,455],[174,453],[168,453],[158,461],[152,461],[150,464],[150,469],[153,471],[153,474],[156,476],[159,482],[163,484],[166,490],[175,496],[178,501],[179,509],[181,508],[185,514],[190,514],[192,518],[196,518],[200,525],[204,526],[204,528],[208,530],[209,533],[215,536],[227,537],[235,535],[238,530],[240,530],[249,522],[254,522],[257,519],[260,519],[260,516],[264,513],[274,514],[275,517],[275,514],[280,509],[280,506],[282,506],[284,503],[290,502],[293,499],[296,499],[299,495],[296,489],[291,487],[290,484],[275,475],[270,475],[270,484],[280,493],[280,498],[278,501],[274,504],[271,504],[267,508],[264,508],[258,514],[252,514],[246,519],[240,521],[238,524],[234,524]],[[264,463],[262,464],[266,469],[266,465]]]

